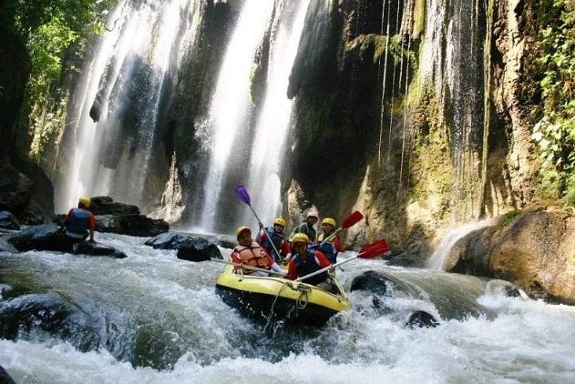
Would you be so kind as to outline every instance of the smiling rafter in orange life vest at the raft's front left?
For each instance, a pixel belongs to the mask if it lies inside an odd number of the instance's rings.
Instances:
[[[282,268],[277,265],[273,258],[262,248],[261,245],[253,241],[252,230],[250,227],[241,226],[236,229],[236,238],[238,245],[231,252],[231,261],[233,261],[235,273],[243,273],[251,276],[269,276],[262,270],[245,268],[244,266],[272,269],[273,271],[285,275]]]

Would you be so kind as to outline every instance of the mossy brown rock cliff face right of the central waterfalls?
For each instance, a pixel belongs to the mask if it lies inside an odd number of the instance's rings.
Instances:
[[[292,215],[358,208],[365,225],[348,242],[385,236],[426,254],[447,227],[537,199],[533,15],[544,5],[451,3],[311,6],[290,82],[283,185],[305,202]]]

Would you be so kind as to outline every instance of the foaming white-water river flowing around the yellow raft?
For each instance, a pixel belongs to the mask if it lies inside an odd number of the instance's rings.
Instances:
[[[575,380],[575,308],[509,298],[497,284],[357,259],[338,271],[344,288],[371,269],[418,291],[397,288],[385,311],[354,291],[353,309],[323,328],[264,329],[216,295],[220,264],[180,260],[143,237],[97,239],[128,258],[0,253],[0,365],[17,383]],[[452,293],[434,292],[441,285]],[[441,306],[482,310],[446,318]],[[406,308],[426,309],[439,326],[405,327]]]

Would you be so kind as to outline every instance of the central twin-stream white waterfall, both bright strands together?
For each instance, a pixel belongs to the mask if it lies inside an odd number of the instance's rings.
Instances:
[[[234,184],[246,185],[262,219],[271,219],[279,210],[283,147],[292,120],[293,101],[287,97],[287,87],[308,3],[247,1],[241,10],[208,117],[201,123],[201,135],[210,132],[203,231],[228,230],[239,220],[253,220],[233,196]],[[269,59],[256,63],[258,55]],[[258,70],[264,74],[261,102],[250,94],[257,86]]]

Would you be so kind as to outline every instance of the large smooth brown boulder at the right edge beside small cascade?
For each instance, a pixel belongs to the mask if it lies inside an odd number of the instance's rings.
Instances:
[[[531,298],[575,304],[575,216],[550,207],[500,217],[459,239],[446,269],[505,279]]]

